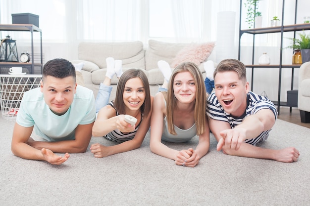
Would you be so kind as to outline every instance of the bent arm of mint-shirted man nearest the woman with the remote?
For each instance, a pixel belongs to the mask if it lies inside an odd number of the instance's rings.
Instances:
[[[30,145],[40,150],[42,148],[47,148],[55,153],[83,153],[86,152],[91,140],[93,124],[94,123],[79,124],[75,129],[74,140],[64,140],[58,142],[34,141],[30,142]]]

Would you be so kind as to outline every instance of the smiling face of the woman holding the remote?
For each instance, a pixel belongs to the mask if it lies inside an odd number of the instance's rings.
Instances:
[[[145,88],[141,79],[138,77],[129,79],[125,83],[125,88],[123,92],[123,101],[126,108],[131,111],[140,110],[140,107],[143,105],[144,100]]]

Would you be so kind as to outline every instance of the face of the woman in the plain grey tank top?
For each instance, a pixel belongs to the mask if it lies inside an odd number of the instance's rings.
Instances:
[[[196,85],[190,72],[180,72],[173,80],[175,98],[181,103],[192,103],[196,99]]]

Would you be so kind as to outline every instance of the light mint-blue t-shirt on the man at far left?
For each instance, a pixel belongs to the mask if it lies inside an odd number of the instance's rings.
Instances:
[[[91,124],[95,118],[93,91],[78,85],[71,106],[60,116],[51,111],[44,101],[40,88],[26,91],[17,113],[16,123],[25,127],[34,125],[37,135],[54,142],[74,140],[75,128],[79,124]]]

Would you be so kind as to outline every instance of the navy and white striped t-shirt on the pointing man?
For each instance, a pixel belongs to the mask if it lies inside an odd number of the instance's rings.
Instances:
[[[274,104],[267,97],[257,95],[252,91],[247,94],[247,109],[241,117],[233,117],[231,114],[226,113],[221,104],[218,102],[215,92],[211,93],[207,98],[208,117],[214,120],[227,122],[230,124],[231,128],[241,124],[247,116],[253,115],[261,109],[270,109],[273,112],[275,119],[277,119],[278,112]],[[258,135],[258,137],[247,139],[245,142],[256,146],[256,144],[268,138],[270,130],[271,129],[263,131]]]

